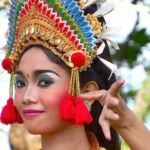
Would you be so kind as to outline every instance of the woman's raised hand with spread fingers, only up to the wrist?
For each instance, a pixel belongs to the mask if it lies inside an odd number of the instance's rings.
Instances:
[[[121,99],[118,92],[124,84],[123,80],[118,80],[110,89],[92,91],[81,94],[85,100],[98,100],[103,106],[102,113],[99,118],[99,123],[103,133],[108,140],[111,140],[110,126],[117,129],[124,128],[128,124],[130,110],[125,102]]]

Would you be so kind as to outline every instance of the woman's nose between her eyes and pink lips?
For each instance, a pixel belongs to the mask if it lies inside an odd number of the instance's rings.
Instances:
[[[37,103],[38,102],[38,94],[37,90],[34,86],[28,87],[23,98],[24,104]]]

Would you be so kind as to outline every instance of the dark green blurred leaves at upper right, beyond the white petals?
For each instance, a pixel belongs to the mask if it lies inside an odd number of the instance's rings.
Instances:
[[[150,42],[150,35],[146,33],[146,29],[133,30],[126,38],[124,43],[119,44],[120,51],[114,55],[117,61],[125,61],[132,68],[135,62],[142,53],[141,48]]]

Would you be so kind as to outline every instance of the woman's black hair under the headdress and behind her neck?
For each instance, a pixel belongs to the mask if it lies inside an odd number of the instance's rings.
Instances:
[[[58,56],[53,54],[48,48],[42,45],[37,44],[30,45],[25,48],[23,54],[32,47],[41,49],[51,62],[60,65],[69,74],[71,73],[71,69]],[[101,54],[100,57],[108,61],[111,61],[107,44],[104,52]],[[87,68],[85,71],[80,72],[81,87],[83,87],[88,81],[95,81],[100,89],[107,90],[116,80],[114,75],[111,77],[110,80],[108,80],[110,73],[111,73],[110,70],[96,57],[89,68]],[[105,147],[107,150],[120,150],[119,136],[113,128],[111,128],[112,140],[109,141],[104,137],[102,128],[98,122],[102,109],[103,107],[100,105],[98,101],[95,101],[92,104],[91,114],[93,116],[93,122],[89,125],[85,125],[85,129],[87,132],[93,132],[95,134],[100,146]]]

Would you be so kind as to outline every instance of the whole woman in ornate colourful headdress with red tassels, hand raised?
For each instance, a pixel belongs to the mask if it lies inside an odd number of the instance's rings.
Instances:
[[[123,81],[115,82],[114,75],[108,80],[107,44],[102,42],[103,52],[94,44],[101,31],[96,17],[87,14],[86,21],[75,1],[12,3],[19,17],[3,61],[11,82],[1,121],[41,134],[43,150],[119,150],[116,131],[131,149],[146,150],[148,130],[118,96]],[[137,137],[143,135],[141,144]]]

